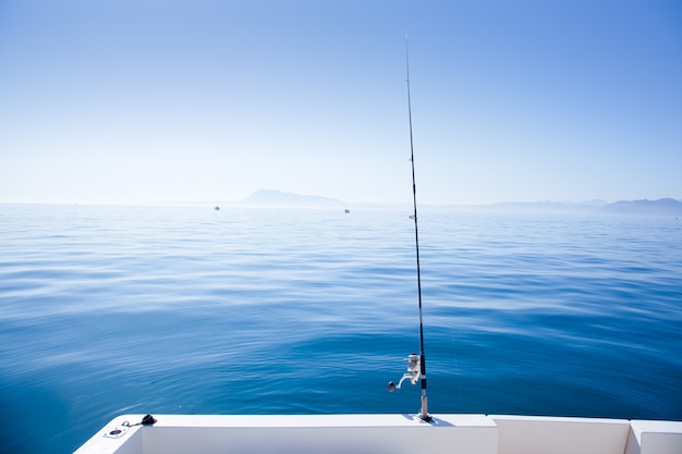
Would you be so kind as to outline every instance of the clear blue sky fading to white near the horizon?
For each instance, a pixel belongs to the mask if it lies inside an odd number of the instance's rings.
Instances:
[[[682,198],[679,0],[0,0],[0,201]]]

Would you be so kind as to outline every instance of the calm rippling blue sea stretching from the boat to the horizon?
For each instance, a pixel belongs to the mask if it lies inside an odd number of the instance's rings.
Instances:
[[[0,205],[0,452],[416,413],[410,209]],[[429,409],[682,419],[682,220],[422,209]]]

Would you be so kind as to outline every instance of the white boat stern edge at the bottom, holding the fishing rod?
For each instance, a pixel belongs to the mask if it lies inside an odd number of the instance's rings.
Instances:
[[[682,422],[506,415],[114,418],[76,454],[682,454]]]

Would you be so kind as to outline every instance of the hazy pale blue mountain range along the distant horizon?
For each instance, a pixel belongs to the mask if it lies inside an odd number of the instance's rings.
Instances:
[[[249,197],[240,200],[239,205],[259,207],[295,207],[295,208],[342,208],[357,207],[357,204],[346,204],[342,200],[313,195],[300,195],[281,191],[260,189]],[[381,207],[381,205],[360,205],[365,207]],[[397,207],[400,205],[392,205]],[[428,206],[425,206],[427,208]],[[497,212],[567,212],[567,213],[607,213],[628,216],[682,216],[682,201],[673,198],[658,200],[620,200],[609,204],[605,200],[588,200],[582,203],[561,201],[529,201],[501,203],[480,206],[444,206],[440,208],[462,209],[475,211]]]

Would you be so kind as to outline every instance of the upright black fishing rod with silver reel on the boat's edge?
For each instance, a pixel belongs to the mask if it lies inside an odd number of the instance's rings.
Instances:
[[[395,389],[400,389],[402,382],[410,379],[412,384],[416,384],[417,380],[421,380],[422,384],[422,409],[419,412],[419,418],[423,421],[430,421],[431,417],[428,414],[428,398],[426,395],[426,359],[424,356],[424,319],[422,316],[422,269],[419,266],[419,229],[417,224],[417,184],[414,172],[414,138],[412,134],[412,97],[410,93],[410,50],[407,46],[407,36],[405,35],[405,74],[407,76],[407,118],[410,122],[410,161],[412,162],[412,201],[414,207],[414,214],[410,218],[414,220],[414,245],[417,259],[417,298],[419,303],[419,354],[411,354],[407,357],[407,372],[395,385],[392,381],[388,384],[389,392]]]

